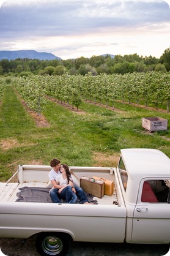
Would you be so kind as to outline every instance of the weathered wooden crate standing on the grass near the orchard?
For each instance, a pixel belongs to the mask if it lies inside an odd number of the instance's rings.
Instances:
[[[155,132],[156,130],[167,130],[168,121],[158,116],[154,118],[142,118],[142,127],[149,132]]]

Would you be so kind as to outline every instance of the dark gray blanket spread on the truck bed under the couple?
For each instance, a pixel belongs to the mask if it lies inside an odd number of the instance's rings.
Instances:
[[[17,200],[21,202],[35,202],[35,203],[52,203],[49,187],[21,187],[20,192],[17,193]],[[93,200],[93,195],[86,194],[89,203],[98,204],[97,200]],[[76,201],[79,203],[79,200]]]

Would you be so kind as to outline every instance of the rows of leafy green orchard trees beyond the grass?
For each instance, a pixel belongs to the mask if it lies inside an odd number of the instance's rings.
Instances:
[[[79,107],[81,100],[89,99],[94,102],[105,102],[106,106],[113,105],[115,100],[128,100],[150,104],[155,108],[166,104],[169,112],[170,74],[161,72],[127,73],[125,75],[100,74],[94,77],[87,75],[68,75],[59,77],[31,75],[15,78],[15,88],[26,100],[29,107],[40,113],[43,111],[45,96]]]

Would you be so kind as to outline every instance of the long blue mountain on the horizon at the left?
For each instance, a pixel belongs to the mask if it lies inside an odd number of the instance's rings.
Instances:
[[[20,50],[20,51],[0,51],[0,60],[1,59],[40,59],[43,60],[52,60],[52,59],[61,59],[56,57],[52,53],[39,53],[38,51],[34,50]]]

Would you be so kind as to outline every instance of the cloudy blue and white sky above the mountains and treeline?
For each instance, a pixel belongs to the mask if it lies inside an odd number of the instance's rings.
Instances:
[[[0,0],[0,6],[1,51],[160,58],[170,47],[170,0]]]

